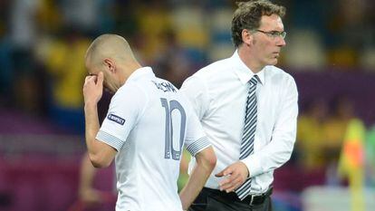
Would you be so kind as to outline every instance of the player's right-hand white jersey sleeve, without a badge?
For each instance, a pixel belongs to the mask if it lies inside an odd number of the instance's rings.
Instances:
[[[190,112],[189,120],[187,121],[187,135],[185,139],[185,147],[187,148],[187,151],[195,157],[199,151],[207,149],[209,146],[211,146],[211,144],[203,131],[197,115]]]

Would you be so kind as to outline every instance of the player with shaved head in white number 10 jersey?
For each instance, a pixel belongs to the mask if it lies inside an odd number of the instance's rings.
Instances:
[[[141,67],[119,35],[103,34],[86,53],[90,73],[83,86],[86,144],[93,166],[115,158],[117,211],[181,211],[197,197],[216,164],[214,150],[189,106],[170,82]],[[97,103],[103,85],[115,92],[101,128]],[[197,159],[178,196],[185,145]]]

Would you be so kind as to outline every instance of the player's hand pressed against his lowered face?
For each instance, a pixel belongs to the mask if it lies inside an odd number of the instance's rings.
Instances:
[[[98,75],[86,76],[83,85],[83,98],[84,103],[96,104],[101,100],[103,93],[103,72],[99,72]]]

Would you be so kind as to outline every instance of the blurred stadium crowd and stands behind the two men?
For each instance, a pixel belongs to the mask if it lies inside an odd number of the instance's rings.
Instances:
[[[278,66],[300,93],[274,210],[375,210],[375,1],[274,2],[287,8]],[[0,0],[0,210],[65,211],[77,199],[83,55],[93,38],[123,35],[179,87],[233,53],[234,8],[229,0]],[[111,169],[95,184],[111,191]]]

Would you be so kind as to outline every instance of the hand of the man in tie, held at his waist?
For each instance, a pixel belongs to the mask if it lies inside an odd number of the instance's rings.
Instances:
[[[220,190],[225,190],[226,193],[229,193],[244,184],[248,175],[249,171],[245,163],[237,161],[236,163],[226,167],[224,170],[217,173],[215,176],[225,177],[219,183]]]

